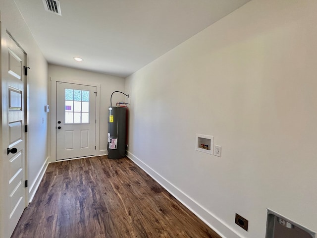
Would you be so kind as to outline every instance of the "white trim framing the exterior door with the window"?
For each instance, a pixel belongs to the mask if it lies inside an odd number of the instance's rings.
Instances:
[[[63,78],[55,78],[50,77],[49,86],[51,86],[51,106],[50,106],[50,112],[51,112],[51,135],[49,134],[49,138],[51,139],[51,157],[49,158],[49,162],[56,162],[56,82],[63,82],[63,83],[73,83],[73,84],[81,84],[81,85],[87,85],[87,86],[93,86],[97,89],[97,97],[96,97],[96,131],[95,131],[95,146],[96,146],[96,156],[101,155],[100,153],[100,89],[101,84],[97,83],[85,83],[80,80],[67,80]],[[106,133],[106,132],[105,132]],[[49,150],[50,151],[50,150]],[[78,159],[78,158],[76,158]],[[58,160],[62,161],[62,160]]]

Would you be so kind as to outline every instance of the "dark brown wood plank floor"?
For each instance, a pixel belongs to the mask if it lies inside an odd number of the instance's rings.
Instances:
[[[52,163],[11,238],[220,238],[128,158]]]

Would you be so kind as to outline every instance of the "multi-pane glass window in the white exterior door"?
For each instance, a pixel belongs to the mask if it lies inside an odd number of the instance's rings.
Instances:
[[[65,88],[65,123],[89,123],[89,91]]]

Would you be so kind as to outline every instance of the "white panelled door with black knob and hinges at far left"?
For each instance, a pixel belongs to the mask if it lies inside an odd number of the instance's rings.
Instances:
[[[25,188],[26,54],[5,30],[1,39],[2,147],[1,230],[9,238],[27,206]],[[0,235],[1,236],[1,235]]]

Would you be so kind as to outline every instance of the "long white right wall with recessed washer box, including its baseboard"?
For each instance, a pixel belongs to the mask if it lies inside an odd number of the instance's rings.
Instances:
[[[267,208],[317,231],[316,12],[252,0],[126,79],[129,157],[224,237],[264,237]]]

